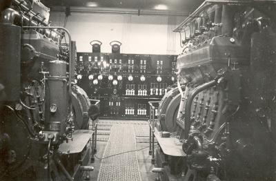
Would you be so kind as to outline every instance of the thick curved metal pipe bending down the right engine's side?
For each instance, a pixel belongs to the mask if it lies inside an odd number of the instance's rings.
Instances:
[[[186,105],[185,105],[185,129],[186,129],[185,133],[184,133],[184,139],[185,140],[188,139],[188,135],[189,135],[188,130],[190,129],[190,109],[191,109],[192,104],[193,104],[193,99],[201,91],[203,91],[207,88],[210,88],[212,86],[215,86],[216,84],[217,84],[217,79],[214,79],[210,82],[206,82],[205,84],[197,86],[197,88],[192,90],[192,92],[190,93],[190,96],[188,96],[187,101],[186,101]]]

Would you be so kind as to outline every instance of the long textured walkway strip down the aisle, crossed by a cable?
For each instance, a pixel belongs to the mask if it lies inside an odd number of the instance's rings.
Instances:
[[[132,124],[113,124],[103,153],[98,181],[141,181],[137,160],[135,131]],[[125,151],[132,151],[115,155]],[[110,155],[115,155],[107,158]]]

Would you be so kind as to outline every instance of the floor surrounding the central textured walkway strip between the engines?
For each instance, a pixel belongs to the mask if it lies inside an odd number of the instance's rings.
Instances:
[[[155,173],[152,173],[151,170],[154,166],[151,164],[151,156],[148,155],[149,143],[148,143],[148,122],[146,121],[123,121],[123,120],[100,120],[99,129],[97,135],[97,158],[95,158],[95,163],[90,163],[94,166],[94,171],[90,172],[90,180],[97,180],[99,169],[101,166],[101,160],[98,158],[103,158],[103,153],[106,149],[107,140],[110,133],[110,128],[112,124],[132,124],[135,128],[136,135],[136,149],[137,151],[137,160],[139,164],[139,170],[141,173],[141,179],[143,181],[154,181]],[[109,131],[108,131],[109,130]],[[141,149],[141,150],[140,150]],[[110,178],[112,180],[112,178]]]

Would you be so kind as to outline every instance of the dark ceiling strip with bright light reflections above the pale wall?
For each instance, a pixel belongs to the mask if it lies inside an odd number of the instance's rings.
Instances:
[[[74,6],[193,12],[204,0],[41,0],[48,7]]]

